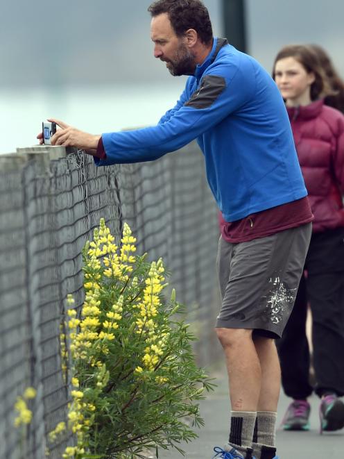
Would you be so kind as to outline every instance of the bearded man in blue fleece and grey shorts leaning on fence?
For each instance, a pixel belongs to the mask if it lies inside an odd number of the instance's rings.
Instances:
[[[291,313],[313,219],[286,108],[254,59],[213,37],[200,0],[158,0],[148,10],[155,58],[174,76],[189,75],[176,106],[157,126],[103,135],[51,119],[62,128],[52,144],[83,148],[101,166],[155,160],[197,138],[225,219],[216,333],[232,411],[229,443],[214,457],[277,458],[273,339]]]

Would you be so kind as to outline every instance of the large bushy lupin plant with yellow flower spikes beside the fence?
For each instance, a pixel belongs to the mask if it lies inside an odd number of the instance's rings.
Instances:
[[[121,247],[105,226],[83,251],[85,303],[76,317],[69,296],[63,358],[73,385],[69,428],[76,446],[64,458],[142,458],[146,448],[175,447],[203,426],[198,401],[212,380],[197,367],[195,337],[165,299],[162,260],[134,256],[124,226]],[[69,349],[65,351],[65,349]]]

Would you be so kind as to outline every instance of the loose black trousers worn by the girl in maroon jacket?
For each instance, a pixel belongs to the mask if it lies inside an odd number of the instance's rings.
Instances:
[[[309,384],[309,345],[306,336],[307,303],[313,317],[315,391],[344,395],[344,228],[311,237],[295,305],[282,338],[276,340],[282,386],[288,397],[304,399]]]

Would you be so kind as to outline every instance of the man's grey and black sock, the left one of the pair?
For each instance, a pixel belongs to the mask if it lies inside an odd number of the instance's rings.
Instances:
[[[252,437],[257,413],[255,411],[230,412],[230,439],[232,445],[240,453],[252,448]],[[245,455],[243,455],[245,457]]]

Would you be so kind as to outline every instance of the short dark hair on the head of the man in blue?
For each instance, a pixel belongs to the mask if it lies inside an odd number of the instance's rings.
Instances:
[[[209,12],[200,0],[157,0],[148,8],[152,17],[166,12],[175,35],[182,37],[193,28],[200,41],[209,44],[213,39]]]

